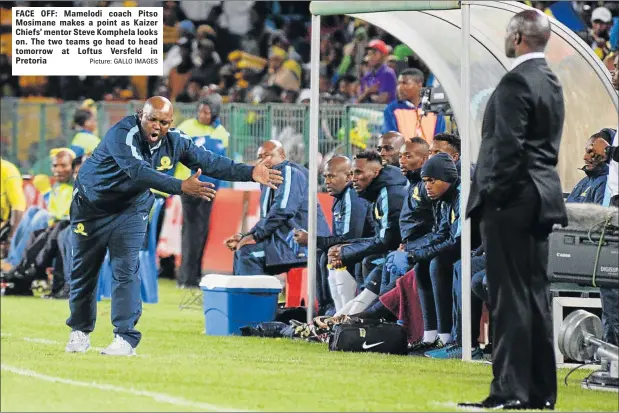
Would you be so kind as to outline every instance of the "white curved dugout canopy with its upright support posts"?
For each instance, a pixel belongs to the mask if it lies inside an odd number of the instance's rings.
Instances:
[[[475,162],[481,122],[488,97],[511,68],[505,57],[505,28],[528,6],[511,1],[313,1],[310,103],[310,191],[308,302],[314,302],[316,273],[316,201],[318,142],[318,74],[320,16],[345,14],[365,20],[408,45],[443,86],[462,138],[462,163]],[[559,174],[564,191],[582,177],[587,138],[602,128],[616,127],[619,102],[610,72],[575,33],[550,17],[552,37],[546,58],[563,85],[566,120]],[[462,168],[462,202],[470,190],[470,170]],[[470,320],[470,221],[462,225],[462,314]],[[312,317],[308,306],[308,321]],[[462,324],[463,359],[471,359],[470,323]]]

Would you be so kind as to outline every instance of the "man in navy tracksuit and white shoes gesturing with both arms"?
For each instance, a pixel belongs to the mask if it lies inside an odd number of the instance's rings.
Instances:
[[[138,252],[154,200],[151,188],[210,200],[215,192],[212,184],[198,179],[201,170],[223,180],[281,182],[279,172],[263,164],[236,164],[198,148],[183,132],[169,129],[173,113],[166,98],[149,99],[138,115],[114,125],[80,168],[71,204],[73,258],[67,325],[72,331],[67,352],[85,352],[90,346],[97,278],[109,250],[115,339],[102,354],[135,354],[141,338],[135,325],[142,308]],[[179,161],[198,172],[184,181],[174,178],[172,169]]]

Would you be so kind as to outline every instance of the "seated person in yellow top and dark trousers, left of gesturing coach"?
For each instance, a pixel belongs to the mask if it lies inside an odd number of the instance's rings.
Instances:
[[[35,279],[46,279],[45,270],[54,266],[54,293],[62,291],[65,274],[58,247],[59,233],[69,225],[69,207],[73,198],[73,172],[75,153],[69,148],[50,151],[52,173],[55,183],[47,203],[49,220],[45,229],[33,230],[27,235],[28,241],[19,256],[19,261],[5,278],[15,283],[7,294],[30,294],[30,284]],[[24,234],[26,237],[26,234]],[[59,258],[59,259],[56,259]]]

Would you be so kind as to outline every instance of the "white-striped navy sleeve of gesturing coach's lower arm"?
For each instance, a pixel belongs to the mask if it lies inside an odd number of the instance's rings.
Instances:
[[[180,194],[180,179],[156,171],[142,159],[134,139],[126,129],[118,129],[108,150],[120,169],[143,189],[156,189],[167,194]]]

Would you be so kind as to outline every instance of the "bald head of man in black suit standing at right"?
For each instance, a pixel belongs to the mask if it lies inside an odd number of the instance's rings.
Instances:
[[[505,55],[509,58],[543,52],[550,39],[550,20],[539,10],[525,10],[511,18],[505,33]]]

